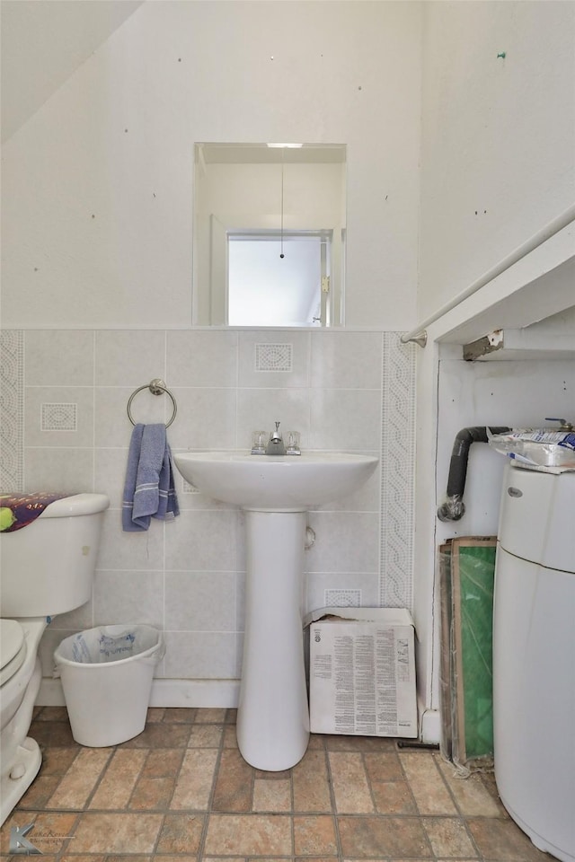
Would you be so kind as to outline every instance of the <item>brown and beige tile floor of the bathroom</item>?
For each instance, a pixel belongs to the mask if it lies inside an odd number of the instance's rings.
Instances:
[[[550,862],[491,775],[454,778],[436,751],[313,735],[292,770],[243,761],[232,709],[150,709],[144,733],[83,748],[66,708],[38,708],[44,761],[2,827],[47,862]],[[21,857],[13,856],[14,860]]]

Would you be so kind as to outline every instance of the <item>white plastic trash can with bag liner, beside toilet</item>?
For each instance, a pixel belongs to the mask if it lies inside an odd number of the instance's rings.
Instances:
[[[54,653],[76,743],[117,745],[146,725],[164,638],[151,626],[101,626],[65,638]]]

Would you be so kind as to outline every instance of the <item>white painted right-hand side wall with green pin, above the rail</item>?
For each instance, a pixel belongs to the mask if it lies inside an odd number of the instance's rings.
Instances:
[[[423,9],[419,320],[575,199],[575,4]]]

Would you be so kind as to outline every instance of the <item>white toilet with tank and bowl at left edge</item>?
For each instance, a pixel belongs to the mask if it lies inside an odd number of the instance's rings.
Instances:
[[[57,613],[92,597],[104,494],[75,494],[46,506],[35,521],[0,532],[0,824],[40,769],[30,736],[40,688],[40,638]]]

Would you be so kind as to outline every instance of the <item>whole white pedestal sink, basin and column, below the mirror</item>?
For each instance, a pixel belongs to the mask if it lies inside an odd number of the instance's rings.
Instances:
[[[302,637],[305,512],[345,497],[376,469],[352,453],[175,453],[184,479],[241,506],[246,522],[246,611],[237,741],[260,770],[288,770],[305,754],[309,710]]]

